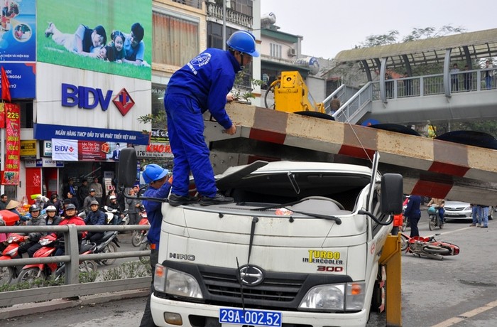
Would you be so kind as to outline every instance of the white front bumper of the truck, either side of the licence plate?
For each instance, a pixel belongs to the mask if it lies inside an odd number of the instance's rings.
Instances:
[[[152,294],[151,311],[153,321],[157,326],[185,326],[193,327],[190,324],[189,316],[204,316],[215,318],[219,321],[220,306],[210,306],[206,304],[194,304],[188,302],[171,301],[160,299]],[[181,316],[182,325],[172,325],[164,320],[164,313],[177,313]],[[346,326],[364,327],[368,322],[368,312],[362,310],[357,313],[315,313],[303,311],[282,311],[283,323],[295,323],[313,327]],[[219,325],[221,327],[238,325]]]

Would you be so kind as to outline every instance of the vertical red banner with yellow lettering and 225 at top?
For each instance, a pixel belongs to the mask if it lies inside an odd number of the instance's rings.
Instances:
[[[19,184],[19,160],[21,149],[21,109],[17,104],[6,103],[6,156],[1,183],[4,185]]]

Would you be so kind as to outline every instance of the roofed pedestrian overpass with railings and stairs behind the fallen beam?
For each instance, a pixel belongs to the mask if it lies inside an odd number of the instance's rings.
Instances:
[[[497,28],[344,50],[334,58],[334,69],[356,66],[368,82],[360,90],[342,85],[324,100],[325,107],[329,112],[329,102],[337,95],[342,107],[333,116],[351,124],[367,119],[397,124],[497,119],[497,67],[483,64],[496,57]],[[454,63],[467,68],[454,72]],[[442,72],[413,76],[424,67],[440,67]],[[386,79],[395,72],[400,77]],[[409,77],[402,77],[404,73]]]

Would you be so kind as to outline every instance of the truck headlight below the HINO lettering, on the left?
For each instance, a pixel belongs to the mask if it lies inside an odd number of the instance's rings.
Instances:
[[[162,264],[155,264],[153,288],[157,291],[171,295],[195,299],[204,298],[197,279],[190,274],[164,267]]]

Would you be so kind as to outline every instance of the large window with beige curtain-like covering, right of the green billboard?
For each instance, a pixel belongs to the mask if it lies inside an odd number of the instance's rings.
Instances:
[[[152,61],[182,66],[200,52],[199,23],[153,12]]]

